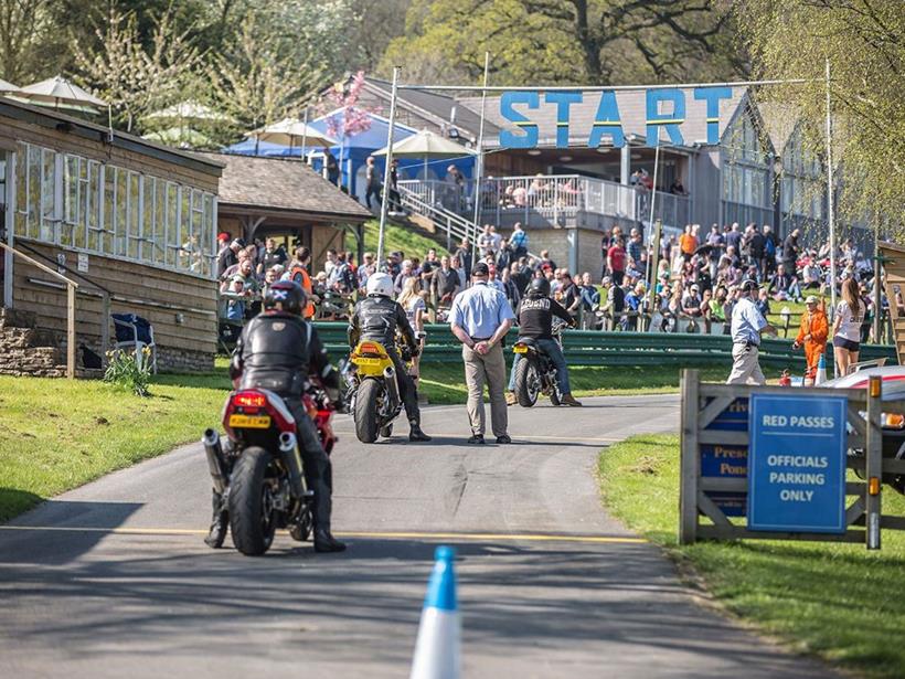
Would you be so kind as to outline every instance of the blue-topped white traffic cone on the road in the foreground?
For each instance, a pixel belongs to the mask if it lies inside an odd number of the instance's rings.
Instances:
[[[427,583],[411,679],[458,679],[461,669],[461,622],[456,601],[451,547],[438,547]]]

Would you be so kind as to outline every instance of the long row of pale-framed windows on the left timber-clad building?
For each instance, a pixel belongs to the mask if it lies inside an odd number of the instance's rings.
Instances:
[[[15,234],[210,278],[212,193],[20,144]]]

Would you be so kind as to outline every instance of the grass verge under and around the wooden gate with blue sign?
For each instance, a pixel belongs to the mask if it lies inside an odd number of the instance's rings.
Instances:
[[[902,677],[902,532],[884,531],[880,552],[829,542],[681,547],[677,436],[638,436],[604,450],[599,479],[613,513],[693,565],[706,588],[733,614],[796,650],[864,676]],[[894,491],[884,492],[883,502],[891,513],[905,513],[905,498]]]

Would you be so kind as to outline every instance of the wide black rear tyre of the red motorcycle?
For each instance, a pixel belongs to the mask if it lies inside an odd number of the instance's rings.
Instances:
[[[246,556],[260,556],[274,543],[277,529],[270,484],[275,467],[269,450],[246,448],[230,480],[230,531],[233,544]]]

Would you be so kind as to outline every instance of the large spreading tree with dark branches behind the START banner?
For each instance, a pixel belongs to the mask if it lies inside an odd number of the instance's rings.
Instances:
[[[722,79],[731,23],[709,0],[415,0],[381,71],[473,81],[488,50],[497,84]]]

